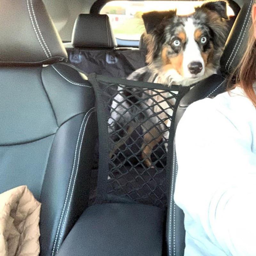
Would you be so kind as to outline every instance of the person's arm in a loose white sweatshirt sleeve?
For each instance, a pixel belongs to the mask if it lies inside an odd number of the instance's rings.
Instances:
[[[207,99],[192,104],[182,117],[175,201],[224,252],[256,255],[254,138],[244,116],[229,114]]]

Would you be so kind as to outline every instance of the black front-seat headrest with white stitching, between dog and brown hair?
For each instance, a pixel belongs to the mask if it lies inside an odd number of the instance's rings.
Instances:
[[[236,21],[231,29],[223,54],[220,59],[220,70],[230,73],[241,60],[248,43],[248,29],[252,24],[252,5],[254,0],[244,0]]]

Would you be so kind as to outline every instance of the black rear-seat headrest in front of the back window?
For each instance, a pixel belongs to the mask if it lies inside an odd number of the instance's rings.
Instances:
[[[116,38],[108,15],[79,14],[73,29],[72,44],[74,47],[115,48]]]

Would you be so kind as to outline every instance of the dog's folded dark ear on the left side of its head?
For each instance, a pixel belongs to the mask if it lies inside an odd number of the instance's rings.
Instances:
[[[146,28],[146,32],[151,33],[164,19],[172,18],[176,15],[176,10],[163,12],[146,12],[142,14],[142,19]]]

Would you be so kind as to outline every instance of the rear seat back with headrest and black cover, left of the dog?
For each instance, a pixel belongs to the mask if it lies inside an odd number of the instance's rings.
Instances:
[[[80,14],[72,42],[66,43],[68,62],[85,74],[127,77],[145,66],[146,51],[118,48],[108,15]]]

